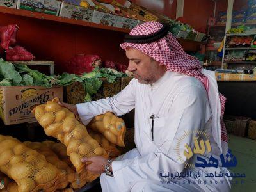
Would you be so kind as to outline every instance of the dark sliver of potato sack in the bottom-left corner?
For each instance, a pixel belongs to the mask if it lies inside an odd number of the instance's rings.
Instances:
[[[19,191],[17,183],[0,172],[0,192],[17,192]]]

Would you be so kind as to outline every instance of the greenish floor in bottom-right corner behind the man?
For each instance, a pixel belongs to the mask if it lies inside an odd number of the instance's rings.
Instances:
[[[231,191],[256,191],[256,140],[229,135],[228,143],[237,158],[237,166],[232,171],[246,174],[244,184],[241,184],[241,178],[233,179]]]

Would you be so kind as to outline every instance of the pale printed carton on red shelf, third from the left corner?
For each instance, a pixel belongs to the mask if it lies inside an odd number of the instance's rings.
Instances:
[[[93,10],[82,8],[74,4],[61,3],[60,17],[67,17],[69,19],[92,21]]]

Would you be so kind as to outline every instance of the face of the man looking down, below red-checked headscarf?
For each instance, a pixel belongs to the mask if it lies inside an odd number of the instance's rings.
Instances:
[[[155,83],[166,72],[165,66],[159,65],[159,62],[138,49],[127,49],[126,56],[129,59],[128,70],[141,84]]]

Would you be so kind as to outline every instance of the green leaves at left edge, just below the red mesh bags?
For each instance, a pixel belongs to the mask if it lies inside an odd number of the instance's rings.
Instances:
[[[10,81],[16,84],[19,84],[23,80],[19,72],[15,70],[14,65],[4,61],[2,58],[0,58],[0,74],[5,79],[10,79]]]

